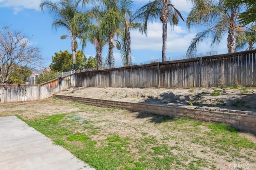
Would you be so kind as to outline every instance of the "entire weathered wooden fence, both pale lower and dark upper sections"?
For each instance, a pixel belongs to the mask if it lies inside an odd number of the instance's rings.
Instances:
[[[192,88],[236,84],[256,86],[256,50],[77,72],[39,85],[0,84],[0,102],[41,100],[69,86]]]

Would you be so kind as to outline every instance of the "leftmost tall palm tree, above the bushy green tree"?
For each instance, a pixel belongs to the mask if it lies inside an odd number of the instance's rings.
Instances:
[[[76,70],[76,49],[78,44],[76,38],[79,38],[82,33],[88,27],[88,20],[84,14],[78,12],[78,5],[81,0],[60,0],[58,2],[51,2],[44,0],[40,4],[42,11],[46,10],[54,18],[52,27],[59,28],[64,27],[68,30],[68,35],[62,35],[61,39],[67,37],[71,38],[71,49],[72,49],[72,69]]]

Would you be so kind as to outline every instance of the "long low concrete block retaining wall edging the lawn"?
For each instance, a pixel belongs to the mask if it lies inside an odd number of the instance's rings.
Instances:
[[[62,100],[75,101],[83,104],[89,104],[92,106],[118,107],[130,111],[168,115],[170,117],[186,117],[205,122],[222,123],[226,125],[231,125],[232,127],[242,131],[250,131],[256,133],[256,112],[252,111],[214,109],[206,107],[171,107],[154,104],[84,98],[78,96],[66,96],[59,94],[54,94],[53,96],[56,96],[57,98],[60,98]]]

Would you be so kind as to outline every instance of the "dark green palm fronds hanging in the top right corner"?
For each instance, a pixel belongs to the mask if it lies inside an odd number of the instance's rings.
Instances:
[[[246,10],[239,14],[239,21],[243,25],[256,22],[256,1],[255,0],[225,0],[225,6],[244,6]],[[256,31],[254,29],[254,31]]]

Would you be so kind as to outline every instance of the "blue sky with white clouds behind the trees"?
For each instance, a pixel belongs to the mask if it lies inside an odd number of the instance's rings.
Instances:
[[[56,2],[58,0],[52,0]],[[134,0],[134,10],[140,8],[149,0]],[[187,0],[171,0],[174,7],[178,9],[186,20],[192,4]],[[44,66],[49,67],[54,53],[68,50],[71,53],[71,39],[60,39],[60,36],[68,34],[66,29],[52,29],[53,18],[48,12],[42,12],[39,8],[41,0],[0,0],[0,27],[9,26],[10,30],[20,30],[26,35],[31,43],[39,47],[44,58]],[[169,25],[168,25],[169,26]],[[186,23],[182,20],[172,30],[167,28],[167,57],[177,58],[186,55],[186,51],[192,38],[202,28],[193,27],[188,31]],[[79,40],[78,40],[79,41]],[[217,51],[218,54],[228,53],[227,35],[223,38],[217,48],[210,47],[210,39],[201,43],[198,53]],[[78,50],[81,45],[78,44]],[[103,49],[102,57],[106,58],[108,47]],[[95,47],[88,44],[83,50],[86,57],[95,56]],[[131,53],[133,63],[144,63],[146,61],[162,58],[162,23],[154,22],[148,25],[147,36],[137,31],[131,31]],[[122,59],[117,49],[114,49],[115,66],[122,66]]]

